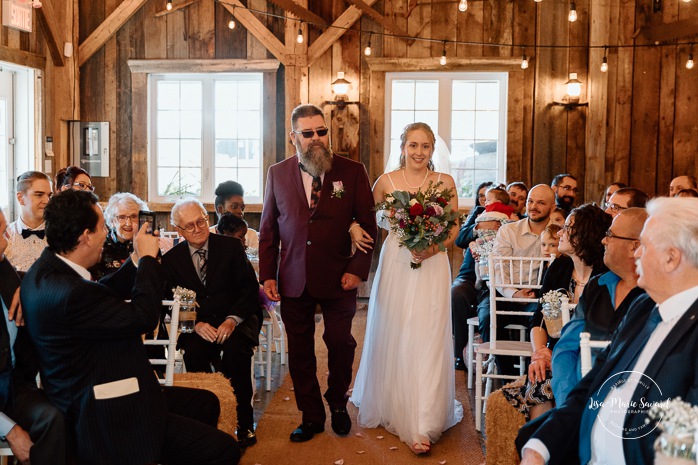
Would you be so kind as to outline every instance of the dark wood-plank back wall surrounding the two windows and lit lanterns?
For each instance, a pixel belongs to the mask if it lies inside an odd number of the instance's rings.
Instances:
[[[78,1],[81,41],[121,3]],[[178,5],[177,0],[173,3]],[[596,200],[605,185],[614,180],[650,194],[663,194],[673,176],[698,175],[698,120],[693,110],[698,100],[698,69],[690,71],[684,66],[687,45],[676,45],[669,39],[661,46],[645,47],[654,43],[648,38],[651,34],[663,33],[666,38],[662,25],[677,21],[682,27],[668,26],[674,30],[669,35],[681,42],[696,40],[698,2],[664,0],[662,10],[654,12],[651,0],[579,0],[579,19],[569,23],[569,2],[563,0],[470,0],[465,13],[458,12],[455,0],[374,0],[366,3],[382,19],[363,14],[348,24],[348,30],[338,34],[340,37],[312,63],[308,63],[308,54],[315,41],[324,40],[322,29],[304,23],[306,43],[297,46],[290,43],[298,28],[296,21],[256,15],[282,46],[288,44],[281,52],[270,52],[262,45],[264,40],[257,39],[258,30],[255,34],[248,32],[240,21],[233,31],[227,28],[230,12],[222,3],[198,0],[186,8],[157,16],[164,11],[165,0],[146,0],[81,67],[82,119],[111,123],[116,176],[96,181],[103,196],[129,190],[134,178],[142,175],[133,171],[129,59],[264,59],[282,54],[273,158],[279,160],[287,155],[285,119],[292,105],[307,100],[324,106],[331,118],[333,148],[362,161],[375,179],[383,165],[385,89],[384,82],[378,82],[383,71],[376,72],[371,62],[399,58],[412,67],[421,63],[419,69],[442,69],[435,63],[444,40],[448,69],[510,71],[509,181],[547,183],[556,173],[570,172],[579,177],[584,198]],[[351,2],[296,3],[307,6],[330,24],[343,18]],[[289,16],[266,0],[240,4]],[[238,7],[236,16],[240,12]],[[369,31],[375,34],[371,37],[373,54],[367,59],[363,48]],[[395,31],[436,41],[380,35],[394,35]],[[526,44],[528,70],[518,67],[521,47],[490,46],[511,43]],[[604,45],[610,46],[608,73],[598,69]],[[695,52],[698,55],[698,48]],[[330,83],[338,71],[344,71],[346,79],[352,82],[349,100],[360,101],[359,106],[339,109],[324,105],[333,99]],[[569,72],[577,72],[584,83],[582,101],[588,101],[588,107],[568,111],[551,105],[563,96],[562,83]]]

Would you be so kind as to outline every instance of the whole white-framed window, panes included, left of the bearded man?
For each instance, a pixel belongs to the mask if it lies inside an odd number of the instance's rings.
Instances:
[[[262,76],[150,75],[150,200],[212,202],[233,180],[246,202],[262,202]]]

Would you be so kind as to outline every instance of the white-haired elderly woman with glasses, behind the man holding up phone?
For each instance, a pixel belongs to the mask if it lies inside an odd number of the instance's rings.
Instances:
[[[104,209],[105,224],[109,228],[102,248],[102,260],[90,268],[94,279],[115,272],[133,252],[133,237],[138,232],[138,212],[148,205],[129,192],[119,192],[109,199]]]

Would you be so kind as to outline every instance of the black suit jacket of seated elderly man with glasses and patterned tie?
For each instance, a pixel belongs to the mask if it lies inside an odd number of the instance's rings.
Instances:
[[[218,327],[228,316],[243,319],[231,337],[240,337],[250,345],[259,343],[259,282],[247,259],[242,242],[219,234],[208,239],[206,285],[199,279],[189,253],[189,244],[182,241],[162,257],[167,292],[182,286],[196,292],[196,321]]]

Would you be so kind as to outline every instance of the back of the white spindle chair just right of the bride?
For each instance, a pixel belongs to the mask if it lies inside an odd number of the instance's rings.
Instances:
[[[497,315],[531,316],[530,311],[500,310],[502,302],[521,304],[537,303],[538,298],[503,297],[497,295],[497,289],[531,289],[540,290],[543,282],[545,265],[552,263],[549,257],[500,257],[490,255],[490,343],[496,346]]]

